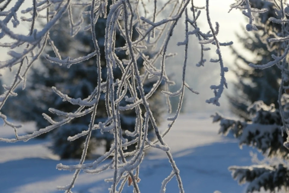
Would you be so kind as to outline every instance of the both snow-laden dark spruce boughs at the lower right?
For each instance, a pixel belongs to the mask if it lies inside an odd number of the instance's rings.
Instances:
[[[288,96],[284,95],[282,102],[288,103]],[[286,109],[285,105],[282,107]],[[273,104],[266,106],[262,101],[257,101],[250,106],[248,112],[252,122],[226,119],[218,113],[212,116],[213,122],[220,122],[219,133],[226,135],[231,131],[239,139],[240,146],[255,147],[266,157],[287,162],[289,149],[284,146],[284,142],[288,135],[286,132],[282,134],[283,123],[279,110]],[[288,111],[285,111],[284,116],[288,117]],[[289,169],[283,163],[230,166],[229,170],[240,184],[249,183],[247,192],[260,191],[261,188],[271,192],[280,188],[289,190]]]

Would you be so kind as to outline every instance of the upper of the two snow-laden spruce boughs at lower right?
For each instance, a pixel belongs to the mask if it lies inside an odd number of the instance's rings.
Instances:
[[[226,119],[218,113],[213,115],[213,122],[220,122],[219,134],[227,135],[231,131],[240,140],[240,146],[253,146],[266,156],[287,159],[289,150],[283,145],[287,133],[282,136],[279,110],[257,101],[248,111],[252,122]]]

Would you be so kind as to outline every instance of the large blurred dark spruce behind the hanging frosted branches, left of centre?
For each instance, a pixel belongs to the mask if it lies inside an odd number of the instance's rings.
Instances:
[[[107,6],[109,7],[109,6]],[[107,10],[108,11],[108,10]],[[89,16],[84,17],[85,24],[89,24]],[[120,21],[121,22],[121,21]],[[104,38],[105,38],[105,27],[106,27],[106,18],[98,18],[97,23],[95,24],[95,36],[100,46],[101,52],[101,74],[102,80],[106,81],[107,78],[107,65],[105,60],[104,53]],[[94,45],[92,42],[92,37],[90,31],[81,31],[74,36],[73,39],[69,36],[69,21],[67,16],[63,16],[59,23],[54,26],[50,32],[51,41],[50,46],[46,48],[45,52],[52,57],[56,57],[53,47],[57,47],[58,52],[61,54],[61,58],[65,59],[67,56],[74,56],[78,58],[83,55],[87,55],[94,51]],[[117,31],[115,34],[116,43],[115,47],[125,46],[125,40],[121,36],[120,31]],[[136,30],[133,29],[132,39],[137,38]],[[51,46],[54,45],[54,46]],[[148,59],[153,56],[152,53],[147,54]],[[120,60],[128,59],[128,55],[125,51],[118,51],[117,57]],[[77,106],[74,106],[67,101],[62,101],[62,99],[53,92],[51,87],[57,87],[62,93],[67,94],[72,98],[87,98],[97,87],[97,66],[96,66],[96,56],[92,57],[89,60],[80,62],[76,65],[71,65],[69,68],[66,65],[57,65],[51,63],[42,57],[42,64],[39,64],[37,68],[32,69],[30,77],[27,79],[27,85],[25,90],[18,88],[16,93],[17,97],[9,98],[5,103],[6,108],[9,109],[8,112],[5,112],[13,119],[18,121],[35,121],[38,129],[45,128],[50,125],[46,121],[42,113],[51,116],[55,121],[61,120],[61,116],[57,116],[54,113],[48,111],[48,108],[54,108],[64,112],[74,112],[77,109]],[[144,68],[144,60],[139,58],[138,68]],[[140,70],[141,71],[141,70]],[[120,79],[122,77],[122,71],[117,66],[114,68],[114,80]],[[147,79],[144,82],[144,92],[147,94],[153,84],[156,81],[151,78]],[[103,85],[106,86],[106,85]],[[115,89],[117,90],[117,89]],[[126,95],[130,97],[129,89],[126,91]],[[139,93],[138,93],[139,95]],[[140,97],[140,96],[139,96]],[[100,101],[98,103],[98,111],[95,116],[95,124],[99,122],[105,122],[108,118],[107,109],[105,106],[106,93],[101,93]],[[25,103],[23,103],[25,101]],[[151,110],[154,114],[154,118],[157,123],[160,122],[162,110],[162,98],[160,96],[160,87],[157,92],[154,93],[148,100],[150,102]],[[121,106],[130,104],[132,102],[127,102],[126,100],[121,101]],[[17,108],[17,111],[13,109]],[[142,115],[144,116],[145,109],[142,108]],[[16,112],[16,113],[15,113]],[[78,138],[74,141],[67,141],[69,136],[74,136],[75,134],[81,133],[82,131],[87,130],[90,123],[90,115],[84,115],[79,118],[73,119],[70,123],[65,124],[52,133],[48,133],[52,140],[52,145],[49,147],[55,154],[59,155],[61,158],[80,158],[82,155],[82,150],[84,148],[85,136]],[[120,122],[123,130],[133,132],[135,130],[135,120],[136,113],[135,109],[122,111],[120,113]],[[152,126],[149,126],[149,132],[152,131]],[[153,132],[149,133],[151,138],[154,137]],[[129,141],[133,138],[127,135],[124,135]],[[46,137],[45,134],[42,134],[42,137]],[[110,149],[111,142],[113,140],[113,134],[109,132],[101,133],[100,129],[93,130],[92,137],[89,144],[89,149],[87,152],[87,157],[91,157],[92,153],[95,152],[97,147],[104,146],[105,150]],[[126,151],[131,151],[135,148],[135,144],[127,147]]]

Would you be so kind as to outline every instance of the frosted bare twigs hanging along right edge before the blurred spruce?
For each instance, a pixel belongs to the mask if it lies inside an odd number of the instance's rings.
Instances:
[[[250,8],[248,0],[246,0],[245,2],[239,1],[240,5],[234,4],[232,6],[235,6],[234,8],[239,8],[239,9],[246,8],[247,9],[247,13],[245,15],[249,17],[248,25],[253,24],[253,21],[254,21],[254,17],[252,16],[251,12],[255,12],[256,14],[259,14],[259,13],[265,13],[266,11],[268,11],[268,9],[275,9],[274,17],[269,17],[268,15],[263,14],[263,18],[267,18],[268,22],[272,22],[272,25],[273,24],[279,25],[278,27],[276,27],[276,29],[272,29],[272,32],[270,32],[270,36],[267,40],[268,43],[278,44],[278,47],[279,47],[279,50],[277,51],[278,55],[272,55],[273,60],[268,62],[267,64],[256,65],[256,64],[250,63],[249,66],[253,68],[257,68],[257,69],[265,69],[265,68],[270,68],[274,65],[277,65],[277,67],[281,70],[281,85],[279,89],[278,103],[279,103],[279,112],[280,112],[281,120],[283,124],[281,129],[282,129],[282,132],[283,130],[286,130],[288,134],[289,125],[288,125],[288,121],[286,120],[288,118],[285,117],[286,112],[283,109],[284,104],[282,104],[281,100],[282,100],[282,93],[286,89],[286,85],[288,84],[288,81],[289,81],[288,60],[286,59],[289,53],[289,41],[288,41],[289,31],[288,31],[288,19],[287,19],[287,17],[289,16],[289,11],[288,11],[289,4],[286,5],[286,1],[284,0],[280,0],[279,3],[277,3],[276,1],[274,2],[259,1],[259,0],[252,0],[252,1],[254,2],[255,6],[257,7],[263,6],[263,8],[259,8],[259,9]],[[262,22],[265,23],[266,21],[262,21]],[[251,25],[251,27],[249,28],[257,30],[256,26],[254,25]],[[247,26],[247,30],[250,31],[250,29],[248,29],[248,26]],[[287,139],[287,142],[284,144],[288,146],[289,138]]]

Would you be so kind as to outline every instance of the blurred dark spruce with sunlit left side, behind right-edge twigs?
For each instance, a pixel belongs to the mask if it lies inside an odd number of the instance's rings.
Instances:
[[[242,33],[237,33],[237,38],[243,48],[254,55],[250,60],[246,54],[231,47],[232,53],[236,56],[233,67],[237,81],[233,82],[233,92],[228,94],[231,111],[246,120],[250,120],[247,112],[248,106],[255,101],[262,100],[266,105],[275,104],[278,108],[278,90],[280,87],[281,70],[275,65],[272,68],[256,69],[249,67],[249,63],[266,64],[272,60],[271,55],[278,55],[279,45],[269,43],[268,39],[273,33],[281,31],[280,26],[270,22],[269,17],[278,17],[273,1],[251,1],[252,8],[269,8],[269,11],[258,14],[255,18],[255,25],[258,31],[247,32],[242,28]]]

